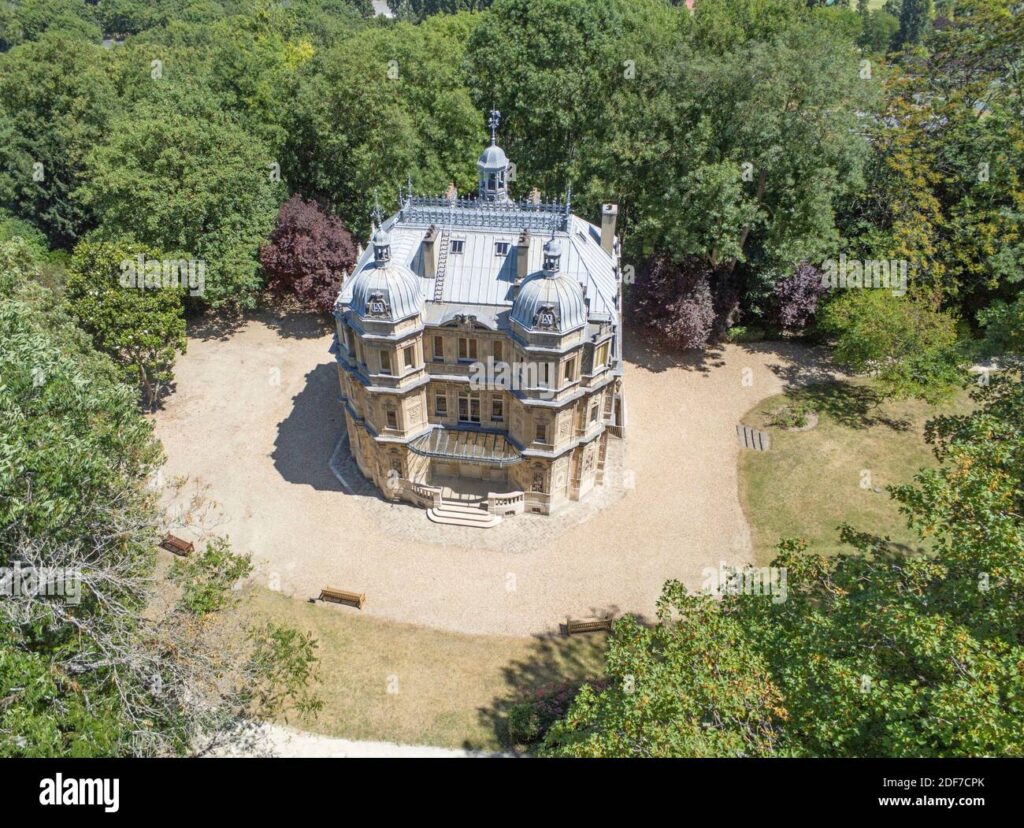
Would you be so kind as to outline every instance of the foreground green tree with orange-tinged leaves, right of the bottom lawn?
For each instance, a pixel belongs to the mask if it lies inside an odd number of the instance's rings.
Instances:
[[[770,756],[785,751],[787,713],[763,656],[712,598],[666,584],[657,623],[615,622],[607,687],[584,686],[542,755]]]

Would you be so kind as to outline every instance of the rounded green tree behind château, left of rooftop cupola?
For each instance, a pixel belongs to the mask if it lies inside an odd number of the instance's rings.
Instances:
[[[470,15],[364,32],[305,68],[291,108],[283,175],[332,205],[346,226],[369,228],[375,195],[393,203],[411,177],[417,192],[475,186],[472,161],[483,115],[461,69]]]

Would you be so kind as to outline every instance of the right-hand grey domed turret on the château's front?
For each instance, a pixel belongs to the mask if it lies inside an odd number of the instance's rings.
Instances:
[[[587,323],[587,303],[575,279],[558,272],[562,246],[544,246],[544,270],[528,276],[512,303],[511,319],[526,331],[566,334]]]

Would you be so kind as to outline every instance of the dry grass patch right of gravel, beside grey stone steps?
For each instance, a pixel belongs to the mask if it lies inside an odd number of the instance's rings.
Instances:
[[[782,537],[803,537],[812,550],[826,554],[848,551],[839,541],[841,523],[888,536],[907,551],[921,550],[884,489],[910,482],[919,469],[935,465],[924,439],[925,423],[939,413],[969,410],[967,394],[940,406],[920,400],[879,402],[867,382],[837,383],[764,400],[742,422],[764,428],[769,412],[796,402],[819,412],[817,427],[769,427],[771,449],[743,451],[739,460],[740,502],[757,560],[770,561]],[[864,472],[869,478],[862,477]],[[862,480],[870,485],[863,487]]]

